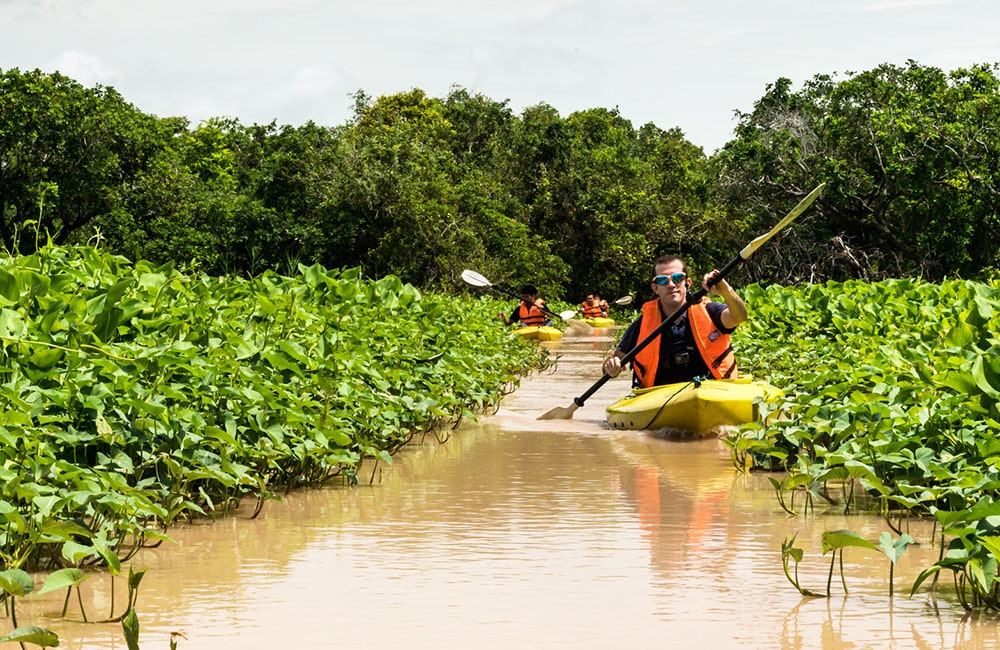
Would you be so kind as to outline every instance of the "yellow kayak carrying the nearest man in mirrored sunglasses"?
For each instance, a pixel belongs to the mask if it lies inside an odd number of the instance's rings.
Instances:
[[[780,389],[749,377],[636,388],[607,408],[608,424],[613,429],[669,428],[707,434],[721,426],[757,420],[754,400],[780,394]]]

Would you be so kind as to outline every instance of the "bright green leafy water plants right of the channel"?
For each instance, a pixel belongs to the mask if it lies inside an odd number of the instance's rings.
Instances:
[[[786,470],[783,502],[875,507],[896,533],[894,520],[933,515],[946,551],[916,586],[950,570],[965,604],[1000,608],[1000,289],[852,280],[746,294],[748,367],[786,395],[728,441],[738,464]]]

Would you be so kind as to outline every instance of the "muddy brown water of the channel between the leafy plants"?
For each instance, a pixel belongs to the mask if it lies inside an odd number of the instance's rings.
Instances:
[[[787,515],[761,474],[739,474],[718,438],[613,431],[609,382],[572,420],[539,421],[600,376],[601,336],[549,345],[554,372],[500,410],[376,468],[372,485],[297,492],[245,514],[170,532],[143,551],[137,612],[144,650],[207,648],[996,648],[997,618],[953,598],[908,596],[936,559],[911,548],[888,594],[885,556],[848,549],[847,589],[803,598],[781,544],[796,535],[803,586],[825,592],[824,530],[877,540],[875,517]],[[928,542],[929,526],[910,533]],[[127,570],[126,570],[127,573]],[[116,581],[124,602],[124,577]],[[84,583],[90,619],[110,610],[106,574]],[[125,648],[117,623],[84,624],[76,597],[19,601],[20,625],[60,647]],[[5,619],[9,625],[9,619]],[[9,629],[9,627],[5,628]]]

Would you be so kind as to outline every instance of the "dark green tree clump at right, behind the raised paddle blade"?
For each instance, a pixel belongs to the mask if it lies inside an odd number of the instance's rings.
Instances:
[[[800,92],[778,80],[715,162],[729,212],[755,229],[828,183],[780,254],[753,260],[760,278],[974,277],[998,262],[998,141],[996,66],[910,61]]]

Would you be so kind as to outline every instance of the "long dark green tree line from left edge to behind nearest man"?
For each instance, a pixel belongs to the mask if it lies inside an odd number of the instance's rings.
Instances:
[[[38,71],[4,73],[0,97],[0,243],[22,253],[37,221],[57,243],[99,235],[212,274],[320,263],[455,290],[472,267],[576,302],[597,283],[628,293],[638,266],[700,232],[708,194],[676,130],[600,109],[518,118],[462,89],[359,93],[347,124],[280,128],[189,128]]]

